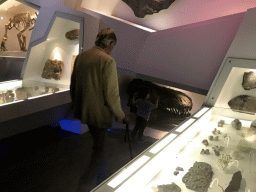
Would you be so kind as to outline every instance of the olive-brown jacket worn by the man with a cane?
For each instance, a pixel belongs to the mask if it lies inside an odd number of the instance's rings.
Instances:
[[[111,128],[113,117],[121,121],[121,109],[115,60],[98,46],[79,54],[71,75],[70,95],[73,117],[81,123]]]

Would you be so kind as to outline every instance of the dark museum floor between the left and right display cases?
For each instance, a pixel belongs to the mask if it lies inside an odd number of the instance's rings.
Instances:
[[[157,129],[152,123],[145,130],[147,141],[131,141],[133,156],[139,155],[184,119],[172,119],[169,128]],[[130,129],[133,122],[131,122]],[[150,127],[151,126],[151,127]],[[161,126],[159,126],[161,127]],[[106,145],[108,176],[130,161],[124,130],[112,129]],[[75,192],[79,179],[89,163],[92,152],[89,132],[82,135],[42,127],[0,140],[1,192]],[[86,184],[82,191],[90,191],[96,181]]]

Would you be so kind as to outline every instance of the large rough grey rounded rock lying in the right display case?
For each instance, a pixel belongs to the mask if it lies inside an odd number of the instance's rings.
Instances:
[[[190,190],[197,192],[206,192],[212,180],[213,171],[211,165],[204,162],[195,162],[189,169],[182,182]]]

